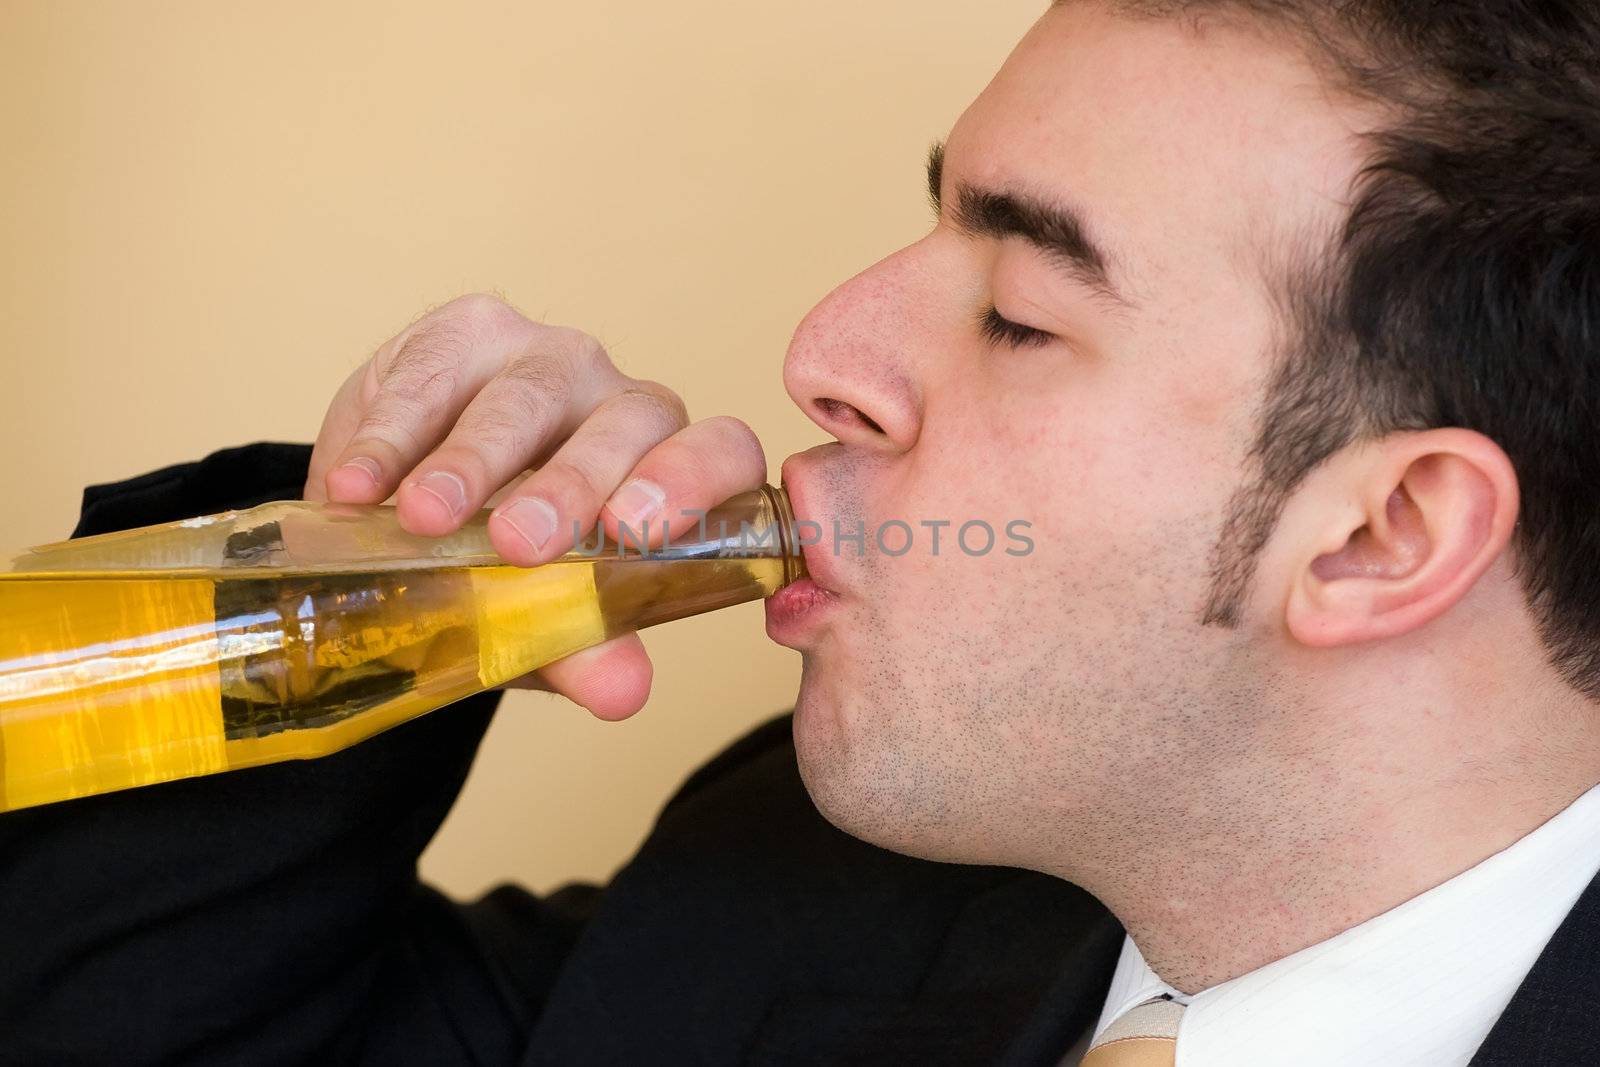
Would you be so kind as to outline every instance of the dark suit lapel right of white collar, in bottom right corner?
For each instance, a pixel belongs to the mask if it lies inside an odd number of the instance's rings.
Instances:
[[[1470,933],[1467,933],[1470,936]],[[1600,1064],[1600,877],[1478,1046],[1470,1067]]]

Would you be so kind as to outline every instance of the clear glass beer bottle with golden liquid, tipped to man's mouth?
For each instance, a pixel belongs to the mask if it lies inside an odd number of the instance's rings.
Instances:
[[[0,558],[0,811],[326,755],[805,571],[773,486],[533,568],[486,522],[283,501]]]

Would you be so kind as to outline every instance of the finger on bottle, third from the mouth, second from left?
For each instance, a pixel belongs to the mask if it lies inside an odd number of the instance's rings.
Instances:
[[[451,533],[517,474],[562,442],[630,379],[578,330],[539,328],[490,379],[445,442],[418,464],[395,498],[416,534]]]

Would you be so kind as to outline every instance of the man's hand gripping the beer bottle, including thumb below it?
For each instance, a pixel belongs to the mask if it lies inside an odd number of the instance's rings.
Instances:
[[[600,522],[616,537],[619,523],[638,530],[712,507],[765,477],[744,422],[691,426],[677,394],[622,374],[594,338],[530,322],[493,296],[462,296],[346,379],[317,435],[306,499],[394,494],[400,525],[424,536],[453,533],[494,504],[494,549],[528,566],[571,549],[574,523]],[[643,707],[650,678],[629,633],[514,685],[626,718]]]

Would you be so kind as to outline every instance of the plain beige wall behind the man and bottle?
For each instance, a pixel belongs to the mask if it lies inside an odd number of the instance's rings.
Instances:
[[[776,474],[821,440],[794,325],[926,229],[928,144],[1043,6],[0,0],[0,545],[66,536],[85,483],[310,440],[472,290],[744,416]],[[606,877],[798,678],[758,605],[646,641],[634,721],[506,699],[427,877]]]

